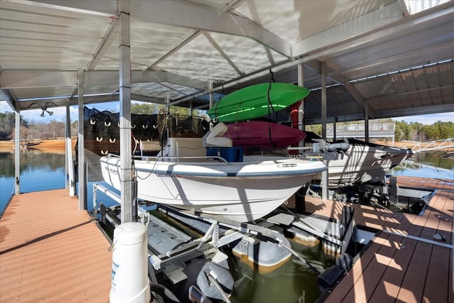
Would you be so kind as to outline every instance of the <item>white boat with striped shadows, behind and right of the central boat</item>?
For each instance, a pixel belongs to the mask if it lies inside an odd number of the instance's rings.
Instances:
[[[313,139],[314,140],[314,139]],[[357,139],[326,143],[315,139],[323,153],[338,153],[328,161],[328,184],[343,186],[370,180],[384,182],[386,172],[413,155],[411,149],[367,143]]]

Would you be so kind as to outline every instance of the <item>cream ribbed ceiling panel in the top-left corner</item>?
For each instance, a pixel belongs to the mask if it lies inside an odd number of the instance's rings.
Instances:
[[[0,20],[4,70],[84,67],[110,22],[108,17],[8,1],[1,1]]]

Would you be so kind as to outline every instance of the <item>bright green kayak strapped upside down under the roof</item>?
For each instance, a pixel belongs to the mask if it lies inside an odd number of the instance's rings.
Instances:
[[[206,114],[221,122],[257,119],[297,103],[309,92],[309,89],[288,83],[271,82],[271,87],[270,83],[255,84],[223,97]]]

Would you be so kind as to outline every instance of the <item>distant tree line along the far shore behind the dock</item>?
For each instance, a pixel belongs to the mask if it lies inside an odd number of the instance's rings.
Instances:
[[[165,109],[164,105],[156,104],[133,104],[131,105],[132,114],[157,114],[160,110]],[[189,109],[172,106],[172,114],[190,114]],[[198,111],[193,113],[199,115]],[[13,112],[0,113],[0,140],[11,140],[15,134],[15,117]],[[364,121],[360,121],[364,123]],[[372,122],[372,121],[371,121]],[[445,138],[454,138],[454,122],[437,121],[431,125],[423,125],[419,122],[393,121],[392,119],[377,119],[374,123],[395,123],[394,138],[396,141],[434,141]],[[344,122],[348,124],[347,122]],[[350,122],[350,123],[358,123]],[[340,124],[340,123],[338,123]],[[77,134],[77,121],[71,125],[71,133]],[[44,140],[52,138],[61,138],[65,136],[65,123],[62,121],[28,121],[21,116],[20,123],[21,140]],[[321,135],[321,125],[306,126],[306,131],[313,131]]]

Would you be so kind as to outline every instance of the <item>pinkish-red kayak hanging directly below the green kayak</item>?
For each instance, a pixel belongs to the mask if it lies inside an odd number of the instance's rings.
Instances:
[[[233,146],[247,148],[287,148],[303,140],[306,134],[297,128],[267,121],[245,121],[228,124],[225,137]]]

